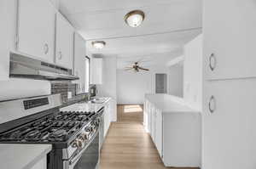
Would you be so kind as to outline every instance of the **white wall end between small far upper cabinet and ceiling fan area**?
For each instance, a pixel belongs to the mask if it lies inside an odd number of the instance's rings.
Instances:
[[[111,97],[112,101],[112,115],[111,120],[117,121],[117,110],[116,110],[116,100],[117,100],[117,85],[116,85],[116,65],[117,59],[115,56],[105,56],[102,62],[102,84],[97,86],[97,96],[99,97]]]

